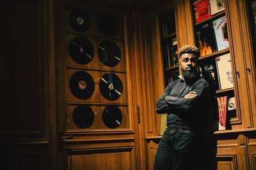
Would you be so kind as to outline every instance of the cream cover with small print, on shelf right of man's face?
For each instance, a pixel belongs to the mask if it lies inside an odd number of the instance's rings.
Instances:
[[[220,90],[234,87],[230,53],[216,57]]]

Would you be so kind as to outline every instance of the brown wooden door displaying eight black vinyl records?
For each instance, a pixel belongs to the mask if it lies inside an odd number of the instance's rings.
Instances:
[[[59,169],[138,168],[129,20],[127,11],[57,1]]]

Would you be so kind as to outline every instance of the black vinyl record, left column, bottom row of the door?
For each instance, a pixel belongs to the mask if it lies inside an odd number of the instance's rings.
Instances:
[[[92,125],[94,113],[90,106],[85,104],[77,106],[73,111],[73,122],[77,127],[86,129]]]

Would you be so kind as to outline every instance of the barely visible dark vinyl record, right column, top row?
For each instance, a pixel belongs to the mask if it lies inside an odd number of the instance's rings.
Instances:
[[[115,36],[118,32],[116,18],[110,15],[101,15],[99,18],[99,29],[105,36]]]

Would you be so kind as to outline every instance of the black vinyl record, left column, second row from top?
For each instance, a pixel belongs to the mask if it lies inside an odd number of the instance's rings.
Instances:
[[[78,64],[88,64],[93,59],[94,50],[92,43],[83,37],[73,38],[68,45],[71,58]]]

